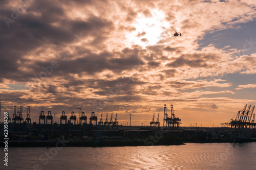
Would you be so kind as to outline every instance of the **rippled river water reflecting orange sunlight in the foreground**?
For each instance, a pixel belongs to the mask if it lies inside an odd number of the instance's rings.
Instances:
[[[3,151],[1,151],[3,155]],[[256,169],[256,142],[103,148],[9,148],[1,169]],[[3,159],[3,157],[2,157]]]

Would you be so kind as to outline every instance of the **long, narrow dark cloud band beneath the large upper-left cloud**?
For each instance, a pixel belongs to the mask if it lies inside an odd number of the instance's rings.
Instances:
[[[139,51],[134,48],[125,48],[122,53],[119,53],[119,57],[114,57],[113,54],[103,52],[100,54],[94,54],[90,51],[84,51],[85,54],[82,58],[72,59],[67,58],[65,61],[59,61],[59,66],[54,68],[48,77],[52,76],[63,76],[67,74],[82,74],[86,72],[89,75],[93,75],[96,72],[103,70],[112,70],[113,72],[121,72],[123,70],[132,70],[134,66],[142,66],[144,63],[140,62]],[[37,75],[44,71],[42,66],[50,66],[52,61],[47,62],[34,62],[30,65],[30,68],[37,73]],[[72,64],[71,64],[72,63]]]

